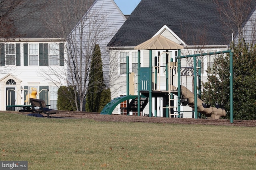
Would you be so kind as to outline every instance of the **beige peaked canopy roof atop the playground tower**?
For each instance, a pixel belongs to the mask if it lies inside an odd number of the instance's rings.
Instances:
[[[178,43],[175,43],[170,39],[167,39],[166,37],[159,34],[156,37],[153,37],[148,41],[145,41],[144,43],[137,45],[136,47],[134,47],[134,49],[135,50],[174,50],[174,49],[184,49],[184,47],[183,45],[179,45]]]

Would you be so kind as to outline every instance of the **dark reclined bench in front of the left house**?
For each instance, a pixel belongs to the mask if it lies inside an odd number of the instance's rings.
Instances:
[[[47,115],[48,118],[50,114],[58,113],[58,110],[47,108],[44,100],[30,98],[29,101],[33,111],[35,111],[36,113],[44,113]],[[36,109],[36,107],[39,108]]]

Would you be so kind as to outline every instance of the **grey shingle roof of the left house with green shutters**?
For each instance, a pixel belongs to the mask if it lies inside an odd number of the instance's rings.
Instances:
[[[94,2],[94,0],[76,0],[77,3],[79,1],[82,1],[83,3],[86,2],[84,3],[84,6],[88,8],[90,8]],[[47,23],[55,20],[54,18],[56,18],[56,12],[59,11],[59,13],[62,14],[62,22],[68,22],[66,26],[72,29],[77,24],[77,20],[71,20],[70,23],[70,20],[68,20],[67,16],[65,16],[67,13],[64,12],[63,7],[66,6],[67,8],[65,10],[69,10],[69,16],[72,16],[70,14],[74,12],[74,2],[75,1],[73,0],[34,0],[32,4],[18,10],[19,18],[17,18],[18,20],[14,21],[16,32],[20,34],[20,38],[24,39],[64,38],[60,37],[60,34],[57,32],[58,30],[53,31],[53,28],[50,28]],[[74,16],[75,15],[73,15],[73,17]]]

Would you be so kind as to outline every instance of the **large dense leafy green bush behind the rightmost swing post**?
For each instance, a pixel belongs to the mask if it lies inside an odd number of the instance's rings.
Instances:
[[[204,102],[224,102],[230,118],[229,55],[219,56],[208,71],[204,83]],[[248,47],[241,41],[234,47],[233,55],[233,113],[235,120],[256,119],[256,46]]]

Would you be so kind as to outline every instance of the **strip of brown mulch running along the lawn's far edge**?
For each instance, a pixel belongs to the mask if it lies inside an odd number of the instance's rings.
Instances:
[[[28,112],[18,111],[0,111],[2,113],[17,113],[27,115]],[[44,114],[43,114],[44,115]],[[47,117],[47,115],[44,115]],[[256,127],[256,120],[234,120],[230,123],[229,119],[192,119],[192,118],[166,118],[166,117],[147,117],[147,116],[126,116],[126,115],[100,115],[93,112],[78,111],[60,111],[58,114],[50,115],[51,118],[70,118],[70,119],[93,119],[95,121],[112,121],[112,122],[144,122],[144,123],[173,123],[173,124],[190,124],[190,125],[224,125],[224,126],[245,126]]]

